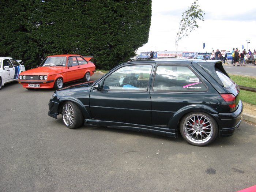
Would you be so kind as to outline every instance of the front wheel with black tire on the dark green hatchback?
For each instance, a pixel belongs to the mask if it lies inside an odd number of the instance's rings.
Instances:
[[[84,117],[79,107],[73,102],[65,102],[61,112],[62,120],[69,129],[75,129],[82,126]]]

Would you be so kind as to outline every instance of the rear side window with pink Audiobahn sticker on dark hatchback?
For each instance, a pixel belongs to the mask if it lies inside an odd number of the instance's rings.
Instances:
[[[154,91],[206,91],[207,87],[187,66],[159,65]]]

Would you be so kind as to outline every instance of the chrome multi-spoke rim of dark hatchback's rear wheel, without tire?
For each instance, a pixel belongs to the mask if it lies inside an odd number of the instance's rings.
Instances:
[[[183,133],[192,143],[206,143],[213,135],[213,124],[203,114],[192,114],[188,116],[183,124]]]

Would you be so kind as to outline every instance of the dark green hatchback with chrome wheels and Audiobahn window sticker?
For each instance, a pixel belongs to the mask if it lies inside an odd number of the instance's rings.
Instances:
[[[123,63],[95,82],[55,91],[48,115],[71,129],[99,125],[182,137],[205,146],[241,123],[239,88],[221,61],[149,59]]]

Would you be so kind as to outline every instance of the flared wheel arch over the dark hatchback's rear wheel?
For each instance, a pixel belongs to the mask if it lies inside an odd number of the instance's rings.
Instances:
[[[216,119],[216,116],[214,115],[214,114],[217,114],[218,112],[207,105],[197,104],[197,105],[187,105],[187,106],[179,109],[170,118],[170,120],[167,124],[167,128],[174,128],[174,129],[178,130],[179,126],[180,126],[181,119],[186,114],[191,113],[191,112],[204,112],[204,113],[209,114],[212,118],[214,118],[214,120],[216,121],[216,123],[219,127],[218,120]]]

